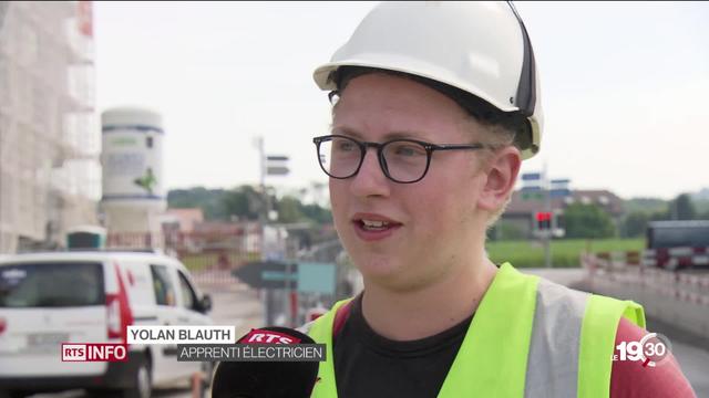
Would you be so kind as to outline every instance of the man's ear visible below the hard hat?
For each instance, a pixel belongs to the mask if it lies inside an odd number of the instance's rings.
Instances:
[[[504,206],[514,189],[521,166],[520,149],[507,146],[497,150],[486,163],[486,180],[477,207],[492,212]]]

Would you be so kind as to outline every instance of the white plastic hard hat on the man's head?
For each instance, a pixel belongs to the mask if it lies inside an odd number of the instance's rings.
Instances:
[[[473,94],[526,119],[522,157],[542,142],[540,84],[532,44],[508,2],[382,2],[314,77],[336,91],[340,66],[403,72]],[[454,88],[454,90],[455,90]]]

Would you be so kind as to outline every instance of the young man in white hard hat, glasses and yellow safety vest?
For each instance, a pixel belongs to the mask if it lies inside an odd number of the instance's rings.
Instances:
[[[335,105],[314,140],[364,292],[304,327],[328,345],[314,397],[693,395],[672,358],[612,362],[645,334],[639,305],[485,254],[542,138],[511,4],[380,4],[315,78]]]

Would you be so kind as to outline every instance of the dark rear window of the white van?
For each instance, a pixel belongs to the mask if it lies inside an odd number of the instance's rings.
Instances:
[[[18,263],[0,266],[0,307],[105,304],[100,263]]]

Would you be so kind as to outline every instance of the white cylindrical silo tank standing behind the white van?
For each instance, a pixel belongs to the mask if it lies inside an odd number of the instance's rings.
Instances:
[[[110,234],[160,233],[165,211],[163,118],[135,107],[101,114],[103,196],[101,207]]]

